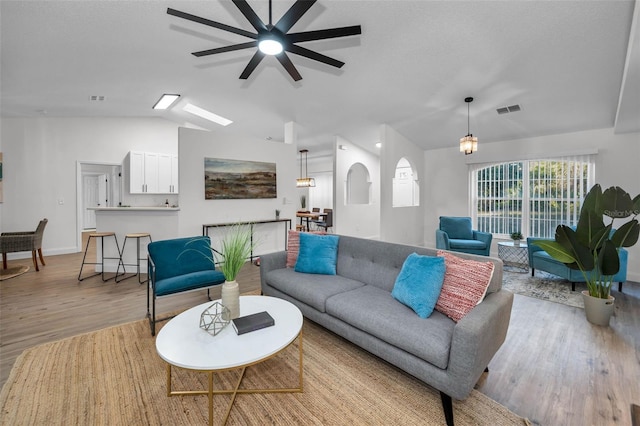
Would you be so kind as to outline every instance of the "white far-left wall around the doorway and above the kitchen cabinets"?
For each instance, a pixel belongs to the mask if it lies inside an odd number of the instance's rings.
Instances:
[[[48,218],[45,255],[80,250],[78,161],[120,164],[130,150],[177,153],[177,125],[160,118],[3,117],[1,127],[1,230],[35,230]],[[29,253],[9,257],[25,256]]]

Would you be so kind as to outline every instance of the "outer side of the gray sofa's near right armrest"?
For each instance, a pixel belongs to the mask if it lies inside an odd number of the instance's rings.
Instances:
[[[513,293],[500,290],[462,318],[453,330],[447,368],[452,388],[447,394],[465,399],[507,336]]]

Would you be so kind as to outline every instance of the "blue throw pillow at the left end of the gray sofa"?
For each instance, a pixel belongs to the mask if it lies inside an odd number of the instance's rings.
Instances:
[[[300,233],[300,250],[294,270],[307,274],[336,274],[338,261],[337,235]]]

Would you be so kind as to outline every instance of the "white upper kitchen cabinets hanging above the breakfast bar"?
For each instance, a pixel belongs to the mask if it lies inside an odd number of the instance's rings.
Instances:
[[[131,194],[178,193],[178,157],[155,152],[129,153]]]

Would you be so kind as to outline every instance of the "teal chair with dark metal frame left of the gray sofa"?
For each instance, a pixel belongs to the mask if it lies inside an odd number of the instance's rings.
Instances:
[[[224,275],[216,270],[209,237],[188,237],[154,241],[147,246],[148,277],[147,318],[151,335],[156,334],[156,298],[186,291],[209,289],[224,283]]]

